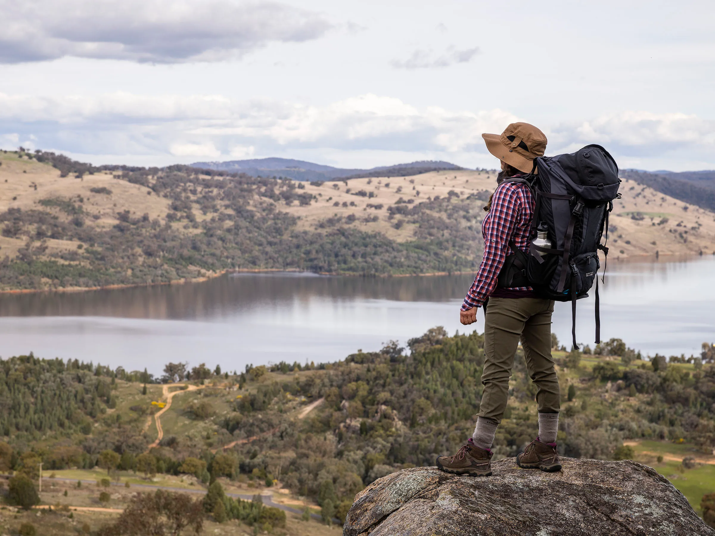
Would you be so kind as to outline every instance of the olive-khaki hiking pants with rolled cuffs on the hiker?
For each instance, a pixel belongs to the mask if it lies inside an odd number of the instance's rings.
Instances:
[[[541,298],[490,298],[484,326],[484,392],[478,416],[497,424],[506,410],[514,354],[521,339],[529,377],[542,413],[558,413],[561,394],[551,359],[553,302]]]

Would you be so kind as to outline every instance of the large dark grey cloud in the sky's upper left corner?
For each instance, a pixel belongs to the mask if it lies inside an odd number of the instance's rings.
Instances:
[[[307,41],[330,24],[277,2],[0,0],[0,62],[63,56],[153,63],[240,57],[270,41]]]

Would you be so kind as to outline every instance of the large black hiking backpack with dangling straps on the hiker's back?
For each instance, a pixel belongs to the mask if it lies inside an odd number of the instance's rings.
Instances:
[[[538,169],[538,173],[534,173]],[[576,344],[576,300],[588,296],[596,279],[596,344],[601,342],[598,277],[601,267],[598,249],[604,229],[608,241],[608,214],[618,199],[618,166],[600,145],[587,145],[571,154],[538,157],[526,177],[505,182],[521,182],[531,188],[536,200],[531,222],[531,250],[528,254],[509,243],[509,254],[499,274],[498,286],[533,287],[539,297],[571,302],[571,335]],[[548,229],[549,249],[533,244],[536,229]]]

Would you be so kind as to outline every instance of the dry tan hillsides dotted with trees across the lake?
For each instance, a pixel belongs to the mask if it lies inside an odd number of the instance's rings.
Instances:
[[[224,171],[92,167],[0,152],[0,289],[168,283],[235,269],[470,272],[495,172],[298,182]],[[715,251],[715,214],[631,180],[614,257]]]

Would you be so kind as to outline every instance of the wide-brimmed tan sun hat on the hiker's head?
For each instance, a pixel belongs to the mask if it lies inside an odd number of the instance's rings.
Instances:
[[[543,157],[548,142],[546,134],[528,123],[512,123],[501,134],[482,137],[491,154],[524,173],[531,173],[534,159]]]

